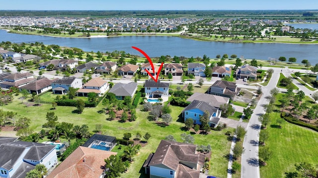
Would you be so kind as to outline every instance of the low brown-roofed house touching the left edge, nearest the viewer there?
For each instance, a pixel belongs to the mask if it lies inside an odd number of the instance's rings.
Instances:
[[[31,73],[15,73],[3,77],[3,81],[0,82],[0,87],[5,89],[9,89],[10,87],[22,87],[35,80]]]

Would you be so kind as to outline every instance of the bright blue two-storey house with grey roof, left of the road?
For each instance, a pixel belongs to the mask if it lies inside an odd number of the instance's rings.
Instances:
[[[205,101],[193,100],[191,104],[183,109],[182,117],[184,118],[184,122],[187,119],[192,119],[193,124],[201,125],[200,117],[203,116],[205,111],[209,112],[210,126],[213,128],[217,127],[220,121],[221,111]]]

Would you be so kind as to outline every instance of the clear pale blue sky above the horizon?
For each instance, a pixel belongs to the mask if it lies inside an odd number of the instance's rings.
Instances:
[[[289,10],[317,0],[1,0],[0,10]]]

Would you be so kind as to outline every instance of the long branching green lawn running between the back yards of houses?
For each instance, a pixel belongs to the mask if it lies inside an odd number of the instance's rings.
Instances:
[[[44,95],[45,96],[45,95]],[[40,106],[29,106],[22,104],[17,99],[18,96],[14,96],[14,101],[8,105],[1,106],[4,111],[17,112],[18,115],[26,116],[31,119],[30,128],[35,132],[39,132],[42,129],[42,125],[46,122],[45,115],[47,112],[54,111],[59,118],[59,122],[69,122],[74,125],[86,124],[90,131],[95,129],[96,124],[102,125],[102,133],[106,135],[116,136],[118,138],[123,137],[124,133],[131,133],[132,138],[135,137],[136,133],[139,132],[142,135],[146,132],[152,136],[148,141],[148,144],[143,147],[138,155],[135,156],[134,162],[127,173],[122,174],[124,178],[144,178],[142,173],[144,169],[142,165],[147,159],[148,155],[155,152],[161,139],[166,135],[172,134],[177,141],[180,139],[180,134],[186,133],[191,134],[190,131],[183,131],[184,123],[182,119],[179,119],[179,115],[183,110],[183,107],[170,106],[172,113],[171,116],[173,121],[169,126],[163,127],[157,125],[154,121],[149,120],[149,113],[140,111],[137,109],[137,120],[134,122],[120,123],[116,120],[107,121],[105,114],[102,112],[102,104],[100,103],[95,108],[84,108],[82,114],[76,114],[72,111],[76,110],[76,107],[68,106],[57,106],[56,110],[50,110],[51,104],[41,104]],[[51,97],[54,98],[54,97]],[[49,99],[48,99],[49,100]],[[17,108],[19,108],[17,110]],[[195,144],[211,144],[212,155],[211,155],[211,170],[209,174],[218,176],[221,178],[226,177],[228,160],[224,158],[224,155],[230,151],[231,142],[227,140],[227,131],[233,131],[231,128],[227,128],[223,131],[211,131],[208,135],[193,134]],[[118,148],[117,148],[118,149]],[[113,151],[115,151],[114,149]],[[118,150],[119,152],[122,150]]]

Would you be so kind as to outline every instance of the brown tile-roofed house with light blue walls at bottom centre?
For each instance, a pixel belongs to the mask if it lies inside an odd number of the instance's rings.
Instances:
[[[196,145],[161,140],[143,167],[150,178],[199,178],[204,162]]]

